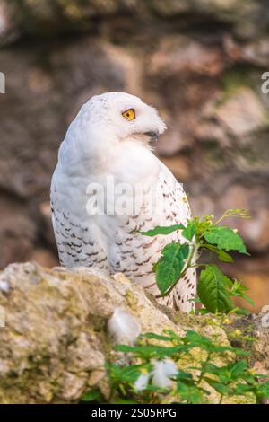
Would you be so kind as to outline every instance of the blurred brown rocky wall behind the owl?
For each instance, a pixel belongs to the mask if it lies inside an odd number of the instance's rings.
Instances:
[[[250,210],[228,223],[251,258],[228,270],[269,303],[268,0],[1,0],[0,71],[0,268],[57,264],[57,149],[92,94],[126,91],[166,120],[157,154],[194,214]]]

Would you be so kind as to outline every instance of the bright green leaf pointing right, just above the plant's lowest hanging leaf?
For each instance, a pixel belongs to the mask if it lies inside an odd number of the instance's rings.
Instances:
[[[247,254],[243,240],[230,227],[213,225],[204,232],[204,239],[225,251],[239,251]]]

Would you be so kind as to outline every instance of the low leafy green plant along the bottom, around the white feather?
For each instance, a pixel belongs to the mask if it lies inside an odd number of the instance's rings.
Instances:
[[[135,346],[115,348],[134,364],[107,365],[111,385],[108,402],[206,403],[212,391],[219,403],[236,396],[248,395],[248,400],[251,396],[256,402],[269,397],[269,382],[258,382],[262,375],[250,370],[241,358],[247,356],[246,351],[220,346],[196,331],[187,330],[182,337],[173,331],[164,331],[163,335],[147,333],[138,338]],[[192,364],[185,363],[184,370],[178,369],[186,357]],[[229,363],[218,365],[220,358]],[[97,391],[86,394],[83,400],[106,402]]]

